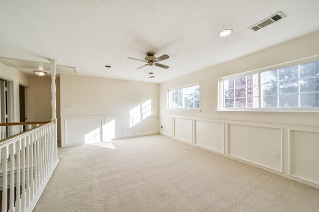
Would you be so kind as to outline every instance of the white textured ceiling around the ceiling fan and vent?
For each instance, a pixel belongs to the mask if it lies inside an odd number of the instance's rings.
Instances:
[[[278,11],[287,17],[247,29]],[[0,57],[160,83],[318,31],[319,0],[0,0],[0,21]],[[169,69],[127,59],[148,51]]]

